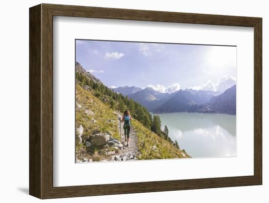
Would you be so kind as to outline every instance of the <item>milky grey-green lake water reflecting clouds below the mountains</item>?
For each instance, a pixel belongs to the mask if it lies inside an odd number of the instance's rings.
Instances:
[[[236,117],[226,114],[157,114],[169,137],[193,158],[236,156]]]

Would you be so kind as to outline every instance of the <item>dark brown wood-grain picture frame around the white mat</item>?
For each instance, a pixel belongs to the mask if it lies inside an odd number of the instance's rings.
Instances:
[[[40,199],[262,184],[262,19],[40,4],[30,15],[29,193]],[[53,16],[146,20],[254,28],[254,175],[53,187]]]

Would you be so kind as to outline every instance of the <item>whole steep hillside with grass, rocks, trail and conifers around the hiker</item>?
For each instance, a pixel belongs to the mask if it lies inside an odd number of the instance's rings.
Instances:
[[[159,134],[150,130],[154,124],[144,107],[121,94],[114,93],[77,64],[76,162],[189,157],[169,137],[165,137],[160,129],[157,131]],[[120,137],[119,132],[122,128],[119,128],[117,117],[122,115],[122,110],[130,107],[133,108],[131,112],[134,112],[133,130],[131,146],[125,148],[124,137]],[[149,120],[146,119],[147,116]],[[96,135],[107,137],[108,140],[105,144],[96,145],[96,142],[93,142]],[[123,136],[122,132],[121,135]],[[134,145],[137,150],[131,151],[135,148]]]

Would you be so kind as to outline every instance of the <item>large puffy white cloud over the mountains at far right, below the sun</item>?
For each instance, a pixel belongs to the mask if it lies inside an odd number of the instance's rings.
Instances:
[[[210,91],[219,91],[224,92],[226,89],[230,88],[231,86],[236,84],[236,78],[230,75],[222,76],[217,83],[214,83],[211,80],[208,80],[205,84],[202,83],[199,86],[190,87],[194,90],[210,90]]]

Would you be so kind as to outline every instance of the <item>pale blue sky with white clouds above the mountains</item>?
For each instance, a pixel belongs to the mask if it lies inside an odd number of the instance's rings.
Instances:
[[[76,40],[76,61],[107,86],[224,91],[236,82],[236,47]]]

